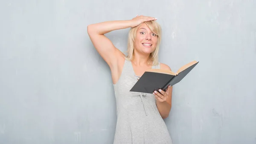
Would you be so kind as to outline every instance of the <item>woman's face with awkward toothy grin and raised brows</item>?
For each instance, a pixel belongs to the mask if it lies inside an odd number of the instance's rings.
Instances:
[[[150,54],[156,48],[157,35],[152,33],[148,26],[143,23],[137,30],[134,44],[134,51]]]

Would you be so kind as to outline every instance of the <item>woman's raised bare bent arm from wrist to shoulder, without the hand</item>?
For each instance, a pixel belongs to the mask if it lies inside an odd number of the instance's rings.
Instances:
[[[122,56],[119,51],[104,34],[123,28],[131,27],[130,20],[116,20],[102,23],[91,24],[87,26],[87,33],[94,47],[99,52],[100,56],[112,67],[116,65],[117,60]]]

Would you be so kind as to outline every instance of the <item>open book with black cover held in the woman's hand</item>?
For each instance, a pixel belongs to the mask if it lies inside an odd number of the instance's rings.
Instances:
[[[183,65],[176,73],[163,69],[149,69],[145,71],[130,91],[141,93],[153,93],[154,90],[167,90],[168,85],[180,82],[196,65],[197,61]]]

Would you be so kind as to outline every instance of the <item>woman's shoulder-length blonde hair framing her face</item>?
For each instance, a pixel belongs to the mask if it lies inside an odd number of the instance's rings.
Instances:
[[[162,29],[161,29],[161,26],[156,21],[153,21],[153,20],[152,21],[146,21],[146,22],[143,22],[143,23],[145,23],[148,26],[150,31],[152,31],[154,34],[157,35],[156,48],[149,55],[148,62],[147,62],[148,65],[151,65],[150,62],[153,61],[152,65],[157,65],[158,64],[158,51],[159,51],[159,47],[160,47]],[[141,23],[141,24],[143,24],[143,23]],[[137,30],[138,30],[140,25],[138,25],[134,28],[131,28],[130,31],[129,31],[129,34],[128,34],[128,50],[127,50],[128,55],[125,56],[125,59],[130,60],[130,61],[134,57],[134,40],[135,40],[136,33],[137,33]]]

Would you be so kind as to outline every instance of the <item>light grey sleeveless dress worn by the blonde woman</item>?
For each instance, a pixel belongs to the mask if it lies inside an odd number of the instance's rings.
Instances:
[[[160,68],[160,64],[152,66]],[[172,144],[153,94],[130,92],[139,79],[125,59],[122,74],[113,84],[116,97],[116,132],[113,144]]]

